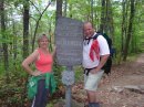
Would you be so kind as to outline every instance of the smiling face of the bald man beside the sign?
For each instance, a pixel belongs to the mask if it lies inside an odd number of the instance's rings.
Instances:
[[[94,34],[94,29],[91,23],[84,24],[84,36],[91,38]]]

